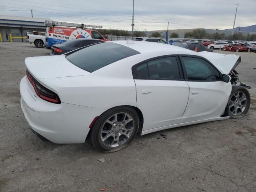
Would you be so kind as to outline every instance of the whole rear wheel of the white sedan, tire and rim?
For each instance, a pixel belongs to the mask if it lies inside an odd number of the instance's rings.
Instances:
[[[93,146],[102,152],[115,152],[125,148],[137,134],[139,116],[131,107],[120,106],[107,110],[92,126]]]

